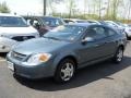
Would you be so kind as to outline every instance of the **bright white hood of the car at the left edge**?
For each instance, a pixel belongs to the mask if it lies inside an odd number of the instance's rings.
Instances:
[[[0,27],[0,34],[5,35],[22,35],[22,34],[31,34],[31,33],[37,33],[35,28],[32,26],[27,27]]]

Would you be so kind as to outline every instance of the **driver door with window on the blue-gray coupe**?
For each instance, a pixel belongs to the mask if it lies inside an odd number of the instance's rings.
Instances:
[[[81,63],[85,64],[98,60],[106,56],[108,46],[106,46],[106,34],[103,26],[93,26],[87,29],[84,38],[92,38],[92,41],[81,45]]]

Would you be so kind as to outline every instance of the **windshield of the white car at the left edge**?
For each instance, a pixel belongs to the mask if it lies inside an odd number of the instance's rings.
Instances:
[[[27,24],[22,17],[0,16],[0,26],[3,26],[3,27],[26,27]]]

